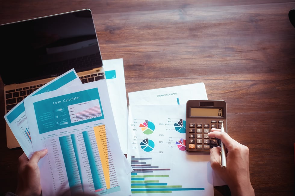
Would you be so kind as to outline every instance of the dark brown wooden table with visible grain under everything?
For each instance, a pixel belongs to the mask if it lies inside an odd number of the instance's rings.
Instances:
[[[0,24],[90,8],[102,58],[123,58],[127,93],[203,82],[208,99],[227,102],[228,134],[250,149],[256,195],[294,195],[295,28],[288,18],[294,1],[1,0],[0,5]],[[4,116],[2,81],[0,88]],[[4,118],[0,123],[3,194],[15,191],[22,149],[6,147]],[[226,186],[214,192],[228,195]]]

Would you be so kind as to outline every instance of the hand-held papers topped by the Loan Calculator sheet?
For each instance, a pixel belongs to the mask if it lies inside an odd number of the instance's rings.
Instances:
[[[48,149],[38,163],[44,196],[67,190],[131,195],[132,168],[121,150],[106,80],[82,84],[70,70],[25,98],[5,120],[29,158]]]

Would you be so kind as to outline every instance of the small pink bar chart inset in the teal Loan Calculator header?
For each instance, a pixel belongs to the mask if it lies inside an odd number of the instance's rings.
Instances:
[[[98,99],[69,105],[68,110],[72,123],[102,116]]]

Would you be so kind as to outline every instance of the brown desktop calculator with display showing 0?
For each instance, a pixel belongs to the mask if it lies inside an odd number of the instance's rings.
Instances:
[[[226,102],[223,100],[188,100],[186,103],[186,150],[210,153],[219,145],[217,138],[210,138],[212,128],[227,133]]]

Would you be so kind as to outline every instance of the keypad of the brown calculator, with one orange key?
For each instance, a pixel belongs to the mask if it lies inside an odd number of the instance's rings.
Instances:
[[[212,128],[221,128],[221,123],[225,127],[225,120],[209,120],[207,122],[195,122],[190,120],[187,128],[187,150],[190,152],[210,152],[210,148],[218,146],[216,138],[210,138],[208,133]]]

